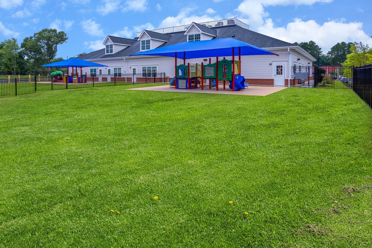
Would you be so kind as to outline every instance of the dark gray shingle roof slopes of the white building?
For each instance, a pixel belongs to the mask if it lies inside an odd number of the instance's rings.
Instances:
[[[199,25],[199,24],[198,24]],[[202,25],[200,25],[202,26]],[[205,27],[206,28],[206,27]],[[230,26],[221,26],[221,27],[214,27],[211,28],[217,32],[217,37],[213,39],[223,39],[223,38],[234,38],[239,41],[246,42],[248,44],[258,46],[260,48],[269,48],[269,47],[278,47],[278,46],[294,46],[294,44],[281,41],[279,39],[272,38],[267,35],[263,35],[261,33],[254,32],[252,30],[248,30],[245,28],[242,28],[237,25],[230,25]],[[151,33],[156,33],[152,31],[147,31]],[[203,31],[204,32],[204,31]],[[169,46],[181,42],[186,42],[187,37],[184,34],[185,32],[176,32],[176,33],[169,33],[166,36],[169,36],[168,42],[165,42],[164,44],[160,45],[159,47],[163,46]],[[161,33],[156,33],[158,35],[164,35]],[[150,33],[149,33],[150,35]],[[113,36],[115,37],[115,36]],[[162,36],[163,37],[163,36]],[[125,38],[123,38],[125,39]],[[155,38],[157,39],[157,38]],[[130,39],[128,39],[130,40]],[[164,40],[164,39],[163,39]],[[102,58],[118,58],[118,57],[128,57],[131,54],[134,54],[136,52],[140,52],[140,41],[132,40],[134,41],[131,46],[128,46],[127,48],[122,49],[119,52],[116,52],[115,54],[109,54],[105,55],[105,49],[100,49],[98,51],[90,52],[89,54],[82,55],[78,58],[80,59],[102,59]]]

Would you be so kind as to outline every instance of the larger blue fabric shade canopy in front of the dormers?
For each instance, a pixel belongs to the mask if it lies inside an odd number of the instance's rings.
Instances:
[[[241,49],[241,55],[276,55],[274,52],[267,51],[254,45],[250,45],[243,41],[238,41],[233,38],[225,39],[212,39],[208,41],[193,41],[193,42],[182,42],[179,44],[164,46],[155,48],[149,51],[137,52],[130,56],[139,55],[153,55],[153,56],[167,56],[183,59],[183,53],[185,52],[185,59],[189,58],[208,58],[208,57],[227,57],[232,56],[232,48],[234,49],[234,55],[239,55],[238,48]]]

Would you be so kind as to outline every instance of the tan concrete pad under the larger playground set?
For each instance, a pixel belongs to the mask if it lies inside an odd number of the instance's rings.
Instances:
[[[270,86],[249,86],[244,90],[232,91],[228,86],[224,90],[223,86],[218,87],[218,91],[216,88],[209,88],[205,87],[204,90],[202,88],[192,89],[192,90],[182,90],[182,89],[175,89],[174,86],[169,87],[168,84],[161,85],[161,86],[153,86],[153,87],[144,87],[144,88],[134,88],[128,90],[150,90],[150,91],[168,91],[168,92],[188,92],[188,93],[209,93],[209,94],[231,94],[231,95],[246,95],[246,96],[267,96],[269,94],[275,93],[279,90],[283,90],[287,87],[270,87]]]

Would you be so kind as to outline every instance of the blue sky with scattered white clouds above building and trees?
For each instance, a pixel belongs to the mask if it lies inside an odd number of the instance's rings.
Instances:
[[[372,45],[370,0],[0,0],[0,41],[43,28],[67,33],[57,57],[103,48],[107,35],[136,37],[166,28],[237,17],[250,29],[288,42],[315,41],[329,51],[337,42]]]

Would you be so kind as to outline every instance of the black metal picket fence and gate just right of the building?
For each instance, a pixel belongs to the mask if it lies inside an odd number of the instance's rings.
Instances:
[[[351,66],[293,66],[291,85],[310,88],[347,89],[353,85]]]

